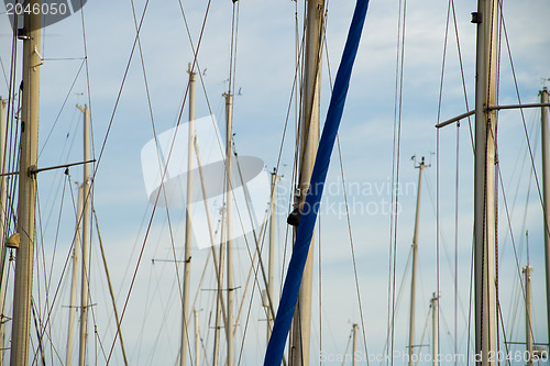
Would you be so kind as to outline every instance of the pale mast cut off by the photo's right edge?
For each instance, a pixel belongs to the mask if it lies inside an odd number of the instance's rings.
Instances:
[[[544,87],[540,91],[540,102],[548,104],[548,89]],[[543,195],[543,218],[544,218],[544,259],[546,259],[546,280],[547,280],[547,319],[548,319],[548,340],[550,341],[550,171],[549,171],[549,152],[548,152],[548,107],[542,107],[540,111],[541,138],[542,138],[542,195]]]

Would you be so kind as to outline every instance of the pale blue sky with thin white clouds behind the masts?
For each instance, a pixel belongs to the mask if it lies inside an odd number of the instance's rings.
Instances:
[[[296,38],[299,41],[302,34],[304,2],[240,0],[238,3],[234,146],[240,155],[262,158],[267,171],[277,165],[282,151],[278,170],[282,178],[277,190],[278,288],[286,271],[288,247],[292,245],[285,221],[293,187],[296,107],[292,92],[296,67]],[[144,5],[145,1],[134,1],[138,19],[143,14]],[[327,7],[321,124],[330,98],[329,80],[336,75],[354,2],[329,1]],[[183,2],[183,9],[196,46],[201,34],[207,3]],[[332,154],[315,247],[311,364],[321,362],[320,351],[334,357],[343,354],[353,323],[360,324],[360,350],[363,350],[362,336],[365,334],[369,353],[384,353],[388,322],[388,286],[392,288],[392,282],[388,282],[388,252],[393,243],[392,218],[384,208],[387,208],[392,200],[398,9],[398,1],[373,0],[370,3],[339,135],[344,179],[340,170],[338,149]],[[463,87],[452,18],[442,73],[448,3],[433,0],[407,2],[400,102],[402,191],[398,196],[400,211],[395,235],[396,293],[399,292],[404,273],[407,275],[395,320],[394,350],[402,352],[406,352],[408,334],[410,269],[406,271],[406,263],[413,239],[418,180],[418,169],[415,169],[410,159],[414,155],[426,156],[427,164],[430,165],[422,170],[416,337],[421,339],[429,312],[429,300],[437,290],[439,273],[441,352],[453,352],[455,324],[457,348],[461,354],[468,351],[473,224],[472,143],[468,121],[463,121],[459,129],[455,125],[444,127],[439,134],[435,124],[473,109],[475,26],[470,20],[471,12],[475,9],[476,4],[471,0],[454,3],[465,80]],[[226,131],[222,93],[228,89],[230,73],[232,11],[233,3],[229,0],[210,4],[197,57],[204,87],[202,82],[197,85],[196,113],[198,118],[215,114],[222,135]],[[499,101],[503,104],[518,102],[513,77],[515,75],[521,101],[536,102],[539,90],[548,85],[550,78],[550,66],[547,62],[550,56],[550,41],[546,29],[550,4],[544,0],[505,2],[503,11],[514,74],[508,47],[503,41]],[[1,7],[0,12],[3,12]],[[9,24],[6,14],[0,14],[0,57],[6,75],[9,75],[11,59]],[[177,263],[176,266],[174,263],[174,252],[180,260],[185,212],[178,209],[167,212],[166,209],[158,208],[153,215],[140,156],[142,147],[153,138],[153,126],[155,131],[163,132],[176,124],[184,100],[188,80],[187,65],[193,62],[193,51],[179,2],[150,1],[140,32],[141,52],[135,48],[130,60],[134,40],[135,23],[131,1],[90,0],[82,8],[82,12],[44,30],[41,49],[44,65],[41,66],[38,166],[81,159],[81,113],[76,109],[76,104],[89,104],[92,119],[92,155],[99,158],[101,154],[99,163],[96,164],[94,206],[119,312],[122,312],[128,298],[122,321],[127,353],[132,365],[170,365],[176,363],[178,353],[178,288],[183,274],[183,264]],[[18,47],[20,59],[21,44]],[[85,56],[87,63],[84,63]],[[128,74],[121,88],[127,65]],[[9,93],[4,74],[0,75],[2,98],[7,98]],[[18,69],[18,85],[20,75]],[[438,113],[440,88],[442,97]],[[284,134],[287,115],[288,126]],[[498,156],[503,185],[498,192],[499,296],[507,340],[522,342],[524,310],[518,307],[518,268],[515,253],[518,263],[524,266],[525,231],[528,230],[529,258],[535,268],[535,340],[544,343],[548,342],[548,335],[543,290],[542,214],[537,188],[537,179],[541,179],[540,111],[526,110],[524,115],[537,178],[532,175],[521,114],[518,111],[504,111],[499,114]],[[187,107],[184,108],[182,122],[186,122],[186,117]],[[473,120],[471,123],[473,127]],[[69,171],[70,177],[61,170],[44,173],[38,181],[40,244],[36,251],[38,257],[33,293],[41,304],[37,311],[41,318],[47,313],[46,309],[53,309],[46,341],[46,358],[52,364],[65,359],[70,279],[67,276],[68,269],[65,269],[63,276],[62,273],[66,259],[70,256],[75,229],[75,182],[81,181],[81,168],[70,168]],[[438,171],[439,241],[435,209],[438,202]],[[342,180],[345,180],[345,184]],[[346,188],[350,202],[350,224],[363,317],[358,303],[358,285],[351,256],[350,232],[343,210],[342,187]],[[116,326],[95,224],[91,236],[90,293],[94,307],[90,323],[95,326],[90,326],[88,361],[90,364],[96,359],[98,364],[105,364],[113,347],[110,364],[122,365],[119,344],[112,346]],[[252,236],[248,235],[246,241],[238,242],[235,251],[238,304],[241,304],[245,295],[235,337],[237,354],[242,350],[242,365],[260,364],[265,352],[265,312],[261,307],[260,290],[254,276],[244,291],[250,269],[248,245],[253,245],[252,243]],[[138,266],[142,248],[143,254]],[[455,249],[459,274],[457,300],[453,288]],[[207,258],[208,251],[194,249],[190,293],[191,298],[197,296],[195,308],[200,310],[200,332],[210,362],[215,303],[212,289],[216,281],[211,258]],[[207,260],[209,262],[205,279],[199,289]],[[134,273],[134,285],[128,297]],[[50,289],[46,290],[48,286]],[[56,292],[54,289],[57,288]],[[9,287],[8,293],[11,293],[10,291],[12,289]],[[53,293],[57,293],[55,299]],[[430,343],[429,335],[430,332],[427,331],[421,344]],[[35,345],[36,337],[33,340]],[[224,350],[222,342],[222,354]],[[421,350],[422,353],[429,352],[429,347]],[[513,350],[521,347],[516,346]],[[327,361],[322,364],[341,362]],[[404,363],[398,359],[396,364]]]

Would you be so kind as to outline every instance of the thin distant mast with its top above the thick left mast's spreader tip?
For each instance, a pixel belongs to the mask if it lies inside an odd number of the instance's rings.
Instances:
[[[90,160],[90,110],[88,107],[77,108],[84,113],[84,160]],[[88,284],[89,284],[89,262],[90,262],[90,166],[84,164],[82,182],[84,208],[82,217],[82,274],[80,293],[80,352],[78,365],[84,366],[86,361],[86,339],[88,336]]]

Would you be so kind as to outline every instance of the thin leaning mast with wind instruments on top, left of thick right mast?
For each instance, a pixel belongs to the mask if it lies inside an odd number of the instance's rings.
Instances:
[[[415,157],[416,160],[416,157]],[[415,354],[415,302],[416,302],[416,267],[418,262],[418,226],[420,223],[420,193],[422,187],[422,169],[427,165],[424,163],[424,156],[418,169],[418,192],[416,197],[415,234],[413,235],[413,273],[410,277],[410,318],[409,318],[409,359],[408,365],[413,366],[413,355]]]

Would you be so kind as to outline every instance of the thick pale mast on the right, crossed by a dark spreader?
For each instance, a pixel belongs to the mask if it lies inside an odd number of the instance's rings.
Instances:
[[[495,125],[497,66],[497,2],[480,0],[472,22],[477,24],[475,82],[475,354],[477,365],[494,365],[495,312]],[[492,358],[490,356],[493,355]]]

